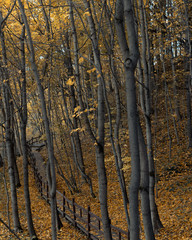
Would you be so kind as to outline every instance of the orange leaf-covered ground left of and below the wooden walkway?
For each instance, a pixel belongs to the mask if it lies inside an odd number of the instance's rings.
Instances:
[[[22,169],[21,159],[18,160],[18,166]],[[1,170],[1,188],[0,188],[0,217],[7,223],[7,211],[6,211],[6,194],[4,185],[2,182],[2,170]],[[22,181],[22,174],[21,174]],[[33,178],[32,170],[29,171],[29,182],[30,182],[30,196],[31,196],[31,207],[34,225],[36,229],[37,236],[40,240],[51,240],[51,211],[50,206],[40,197],[35,181]],[[9,185],[8,185],[9,187]],[[23,228],[23,233],[18,233],[18,236],[22,240],[30,239],[27,232],[27,222],[25,214],[25,204],[24,204],[24,193],[23,193],[23,184],[22,187],[18,189],[18,203],[19,203],[19,212],[21,217],[21,225]],[[11,216],[10,216],[11,219]],[[12,222],[12,220],[11,220]],[[59,231],[58,239],[86,239],[78,230],[76,230],[72,225],[70,225],[64,219],[62,220],[63,228]],[[13,234],[0,223],[0,239],[2,240],[15,240]]]

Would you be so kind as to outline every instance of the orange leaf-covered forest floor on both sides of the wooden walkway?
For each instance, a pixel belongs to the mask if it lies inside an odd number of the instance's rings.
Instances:
[[[160,126],[159,126],[160,127]],[[88,141],[88,140],[87,140]],[[192,239],[192,152],[187,150],[186,143],[177,144],[173,140],[172,153],[169,157],[169,144],[165,141],[165,136],[159,135],[158,148],[155,151],[155,164],[157,169],[157,206],[160,219],[164,228],[156,235],[157,240],[190,240]],[[128,143],[125,141],[124,147],[128,149]],[[108,177],[108,204],[109,214],[112,224],[127,230],[125,214],[123,210],[123,201],[120,187],[115,170],[114,158],[111,156],[109,144],[106,147],[106,169]],[[80,192],[71,196],[63,179],[57,176],[57,188],[61,192],[65,190],[68,198],[75,197],[75,201],[87,208],[89,205],[91,211],[100,216],[100,207],[98,200],[98,182],[95,165],[95,156],[93,149],[87,147],[85,156],[86,172],[92,178],[93,189],[96,198],[92,198],[87,184],[79,182]],[[128,151],[123,152],[124,171],[126,181],[129,181],[130,158]],[[22,169],[22,158],[18,158],[18,167]],[[23,174],[20,172],[21,183]],[[50,207],[41,199],[35,181],[32,169],[29,168],[30,196],[32,203],[32,213],[37,236],[40,240],[51,240],[51,218]],[[7,223],[7,198],[3,180],[3,169],[0,169],[0,218]],[[9,181],[7,180],[9,189]],[[23,233],[18,233],[21,239],[29,239],[27,233],[27,222],[24,206],[23,184],[18,189],[18,203]],[[10,208],[10,206],[9,206]],[[10,214],[11,219],[11,214]],[[12,220],[11,220],[12,222]],[[86,237],[64,219],[63,228],[59,231],[58,239],[86,239]],[[16,239],[8,229],[0,223],[0,239]],[[141,230],[141,239],[143,230]]]

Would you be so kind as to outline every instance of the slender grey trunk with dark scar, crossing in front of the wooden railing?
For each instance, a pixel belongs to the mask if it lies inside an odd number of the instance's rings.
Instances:
[[[104,136],[105,136],[105,102],[104,102],[104,86],[103,86],[103,75],[102,67],[100,61],[100,53],[98,48],[98,39],[96,37],[95,23],[92,16],[92,11],[90,7],[90,2],[84,0],[84,6],[86,11],[89,12],[87,16],[91,40],[92,40],[92,49],[93,49],[93,58],[94,63],[97,69],[97,82],[98,82],[98,112],[97,112],[97,130],[98,130],[98,140],[96,142],[96,164],[97,164],[97,175],[99,181],[99,200],[101,208],[102,223],[104,229],[104,237],[106,240],[112,239],[110,219],[108,213],[108,204],[107,204],[107,176],[104,162]]]

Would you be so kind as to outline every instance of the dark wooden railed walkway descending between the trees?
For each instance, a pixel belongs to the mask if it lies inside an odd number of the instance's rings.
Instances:
[[[50,204],[48,182],[44,180],[38,170],[38,166],[36,166],[37,159],[35,159],[35,154],[33,155],[31,153],[30,159],[31,166],[34,171],[35,181],[41,197]],[[66,197],[65,192],[61,193],[58,190],[56,190],[56,198],[57,210],[63,218],[67,219],[76,228],[81,230],[88,239],[104,239],[102,220],[100,217],[91,212],[90,206],[85,209],[77,204],[74,198],[70,200]],[[111,232],[113,240],[130,239],[129,232],[113,225],[111,225]]]

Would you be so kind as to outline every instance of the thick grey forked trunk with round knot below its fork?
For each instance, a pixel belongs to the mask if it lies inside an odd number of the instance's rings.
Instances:
[[[139,57],[139,51],[132,7],[132,3],[129,0],[117,0],[115,20],[118,41],[121,48],[125,69],[127,117],[131,151],[131,182],[129,190],[130,238],[131,240],[138,240],[140,225],[138,207],[140,158],[137,131],[138,112],[134,72]],[[128,43],[125,35],[126,31],[124,29],[124,17],[125,25],[127,27]]]

